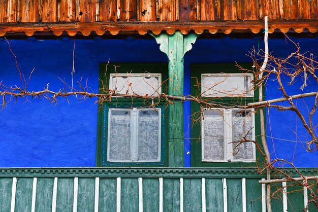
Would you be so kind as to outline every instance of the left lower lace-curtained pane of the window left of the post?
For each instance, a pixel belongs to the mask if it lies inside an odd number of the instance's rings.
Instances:
[[[131,110],[110,109],[108,160],[131,160]]]

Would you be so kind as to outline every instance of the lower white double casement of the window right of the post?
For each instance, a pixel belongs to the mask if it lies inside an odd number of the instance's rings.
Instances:
[[[255,140],[252,110],[206,109],[201,126],[202,161],[255,161],[255,144],[237,146],[244,137]]]

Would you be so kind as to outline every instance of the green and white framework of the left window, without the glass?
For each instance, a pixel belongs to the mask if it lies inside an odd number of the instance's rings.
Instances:
[[[108,88],[111,83],[110,78],[121,76],[124,78],[126,74],[129,76],[144,76],[145,78],[150,76],[156,76],[160,78],[161,75],[161,92],[167,93],[168,79],[168,64],[164,63],[101,63],[100,64],[100,93],[108,92]],[[140,75],[142,74],[142,75]],[[160,75],[158,75],[160,74]],[[128,76],[128,75],[127,75]],[[117,82],[116,82],[117,83]],[[121,85],[122,87],[122,85]],[[116,87],[117,88],[117,87]],[[124,88],[126,90],[126,88]],[[121,90],[117,92],[125,93]],[[153,94],[153,93],[152,93]],[[151,95],[151,94],[149,94]],[[156,95],[156,94],[153,94]],[[152,102],[155,102],[155,108],[151,107]],[[111,156],[110,150],[110,124],[112,119],[112,113],[125,111],[130,120],[130,144],[132,149],[129,150],[129,159],[114,159],[116,156]],[[161,118],[158,120],[158,134],[160,144],[158,144],[158,158],[157,159],[139,159],[138,151],[140,148],[138,137],[138,120],[140,116],[138,114],[143,113],[156,113]],[[135,115],[134,115],[135,114]],[[136,116],[137,114],[137,116]],[[119,116],[118,116],[119,117]],[[168,166],[168,110],[165,101],[162,99],[141,99],[135,97],[112,97],[111,101],[105,101],[99,103],[98,112],[98,135],[97,135],[97,166]],[[113,142],[115,143],[115,142]]]

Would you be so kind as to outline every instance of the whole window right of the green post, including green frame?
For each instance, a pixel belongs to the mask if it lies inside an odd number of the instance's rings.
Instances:
[[[192,65],[192,95],[205,101],[229,107],[207,108],[192,103],[192,165],[193,166],[250,166],[259,155],[255,144],[242,139],[257,140],[260,134],[259,114],[253,109],[235,105],[257,101],[253,91],[253,75],[238,72],[235,65]],[[238,145],[238,146],[237,146]],[[247,163],[248,162],[248,163]]]

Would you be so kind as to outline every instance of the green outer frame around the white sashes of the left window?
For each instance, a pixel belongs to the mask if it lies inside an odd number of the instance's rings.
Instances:
[[[115,68],[116,66],[116,68]],[[99,75],[99,92],[106,93],[109,86],[109,76],[112,73],[161,73],[162,74],[162,92],[167,93],[168,83],[164,83],[168,79],[168,64],[165,63],[101,63],[100,64],[100,75]],[[156,101],[156,99],[154,99]],[[97,156],[96,165],[97,166],[168,166],[168,109],[165,107],[165,102],[162,101],[159,107],[162,108],[162,160],[161,162],[140,162],[140,163],[109,163],[106,162],[107,158],[107,141],[104,141],[103,133],[107,127],[104,129],[104,122],[108,120],[108,108],[114,107],[146,107],[150,105],[151,101],[146,101],[145,99],[134,98],[112,98],[111,102],[103,102],[99,104],[98,112],[98,134],[97,134]],[[106,106],[106,107],[105,107]]]

